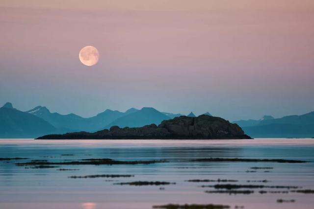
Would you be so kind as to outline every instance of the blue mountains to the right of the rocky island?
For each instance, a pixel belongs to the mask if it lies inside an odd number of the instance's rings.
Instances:
[[[235,121],[254,138],[311,138],[314,136],[314,112],[301,116]]]

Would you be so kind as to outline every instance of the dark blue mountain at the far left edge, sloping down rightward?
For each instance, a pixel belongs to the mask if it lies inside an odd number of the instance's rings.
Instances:
[[[0,138],[36,138],[65,132],[37,116],[16,110],[11,103],[0,108]]]

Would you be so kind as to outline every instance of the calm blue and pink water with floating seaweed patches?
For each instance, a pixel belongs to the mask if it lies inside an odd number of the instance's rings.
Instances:
[[[61,156],[71,154],[73,156]],[[313,209],[314,194],[209,194],[190,179],[234,179],[231,184],[302,186],[314,189],[314,139],[254,140],[33,140],[0,139],[0,158],[28,160],[0,161],[0,209],[151,209],[153,205],[224,204],[245,209]],[[280,158],[310,163],[190,162],[194,158]],[[17,162],[55,162],[86,158],[114,160],[168,160],[168,163],[137,165],[61,165],[79,169],[26,169]],[[273,167],[251,171],[250,167]],[[131,174],[131,178],[70,179],[69,176]],[[268,183],[247,181],[268,180]],[[114,185],[131,181],[167,181],[169,186]],[[164,187],[161,190],[160,187]],[[277,189],[278,190],[278,189]],[[288,189],[279,189],[280,191]],[[295,203],[277,203],[277,199]]]

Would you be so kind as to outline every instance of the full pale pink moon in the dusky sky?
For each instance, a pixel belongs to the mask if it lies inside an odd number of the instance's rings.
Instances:
[[[94,46],[85,46],[79,51],[78,58],[84,65],[93,66],[99,60],[99,52]]]

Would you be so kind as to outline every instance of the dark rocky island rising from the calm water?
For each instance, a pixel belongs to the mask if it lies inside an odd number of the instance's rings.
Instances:
[[[251,139],[235,123],[208,115],[180,116],[139,128],[112,126],[94,133],[52,134],[37,139]]]

